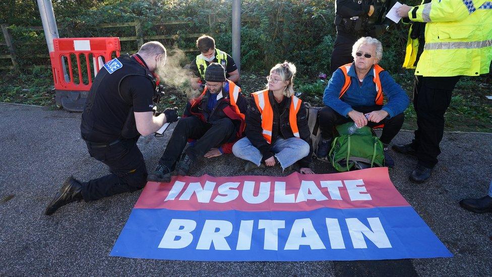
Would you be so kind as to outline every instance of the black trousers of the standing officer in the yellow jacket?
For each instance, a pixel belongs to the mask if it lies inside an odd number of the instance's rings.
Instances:
[[[444,113],[451,103],[451,94],[460,76],[415,76],[413,107],[417,114],[417,130],[412,147],[417,150],[418,163],[434,168],[441,153],[439,143],[444,134]]]

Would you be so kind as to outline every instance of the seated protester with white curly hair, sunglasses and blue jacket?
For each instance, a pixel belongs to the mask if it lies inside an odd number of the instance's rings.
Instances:
[[[376,127],[384,124],[381,142],[389,168],[394,161],[388,154],[391,140],[403,125],[403,112],[409,99],[405,91],[378,65],[383,57],[381,42],[372,37],[359,38],[352,47],[354,62],[338,68],[323,95],[325,107],[320,110],[322,140],[317,155],[324,158],[330,150],[334,127],[353,121],[357,126]],[[383,97],[388,101],[383,103]]]

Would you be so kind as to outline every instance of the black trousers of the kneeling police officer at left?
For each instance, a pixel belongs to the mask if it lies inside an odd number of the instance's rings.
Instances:
[[[82,196],[89,202],[118,193],[142,189],[147,183],[147,168],[137,146],[138,137],[106,147],[92,147],[89,154],[109,167],[110,174],[84,182]]]

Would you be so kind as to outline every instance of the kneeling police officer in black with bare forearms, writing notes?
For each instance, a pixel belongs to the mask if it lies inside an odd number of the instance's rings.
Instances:
[[[69,177],[48,204],[46,215],[70,202],[94,201],[145,186],[147,169],[137,140],[177,120],[177,108],[153,115],[158,82],[154,72],[165,61],[164,46],[151,41],[135,55],[120,56],[101,68],[89,92],[80,129],[89,154],[108,165],[111,174],[88,182]]]

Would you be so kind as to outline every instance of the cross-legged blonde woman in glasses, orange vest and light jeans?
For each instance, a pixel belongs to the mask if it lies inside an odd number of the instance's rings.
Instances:
[[[280,163],[282,170],[299,161],[299,172],[314,174],[310,169],[310,131],[307,127],[304,103],[294,96],[295,66],[289,62],[277,64],[270,70],[265,90],[251,94],[246,113],[246,137],[232,146],[236,157],[248,160],[245,171],[273,167]]]

